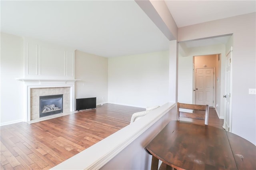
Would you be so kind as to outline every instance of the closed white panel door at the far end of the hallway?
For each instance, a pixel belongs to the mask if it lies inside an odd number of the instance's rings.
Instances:
[[[196,105],[213,107],[214,69],[196,69]]]

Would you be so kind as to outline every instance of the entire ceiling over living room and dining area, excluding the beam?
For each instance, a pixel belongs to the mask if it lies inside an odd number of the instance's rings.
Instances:
[[[165,2],[178,27],[256,12],[256,1]],[[168,39],[133,0],[0,3],[1,32],[8,34],[103,57],[169,49]]]

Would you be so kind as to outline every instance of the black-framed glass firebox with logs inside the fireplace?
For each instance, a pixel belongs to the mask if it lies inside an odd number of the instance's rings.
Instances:
[[[63,94],[39,97],[39,117],[45,117],[63,112]]]

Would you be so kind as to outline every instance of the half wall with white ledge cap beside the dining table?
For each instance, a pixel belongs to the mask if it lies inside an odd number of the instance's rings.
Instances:
[[[144,148],[167,123],[177,120],[176,110],[176,103],[166,103],[52,170],[150,169],[151,156]]]

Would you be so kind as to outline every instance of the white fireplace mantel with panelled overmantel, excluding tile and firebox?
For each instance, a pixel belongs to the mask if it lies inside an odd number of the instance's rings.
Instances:
[[[30,121],[33,88],[70,87],[70,111],[75,108],[75,49],[24,37],[24,121]]]

